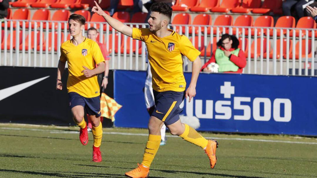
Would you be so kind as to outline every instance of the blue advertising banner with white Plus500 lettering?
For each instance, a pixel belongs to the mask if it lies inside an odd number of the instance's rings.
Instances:
[[[191,73],[184,73],[187,84]],[[114,73],[114,98],[123,105],[119,127],[146,128],[145,71]],[[316,77],[201,73],[196,97],[181,114],[199,119],[201,131],[317,135]]]

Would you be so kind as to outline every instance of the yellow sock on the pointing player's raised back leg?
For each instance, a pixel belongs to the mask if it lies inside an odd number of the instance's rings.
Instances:
[[[190,127],[189,125],[185,124],[185,131],[182,135],[179,137],[182,137],[187,142],[193,143],[197,146],[200,146],[201,148],[206,148],[208,144],[208,140],[206,140],[203,136],[201,136],[195,129]]]

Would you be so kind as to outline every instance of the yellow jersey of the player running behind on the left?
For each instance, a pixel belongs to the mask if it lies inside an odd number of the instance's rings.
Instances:
[[[78,46],[71,40],[65,41],[61,44],[60,60],[68,64],[68,93],[76,92],[86,98],[100,95],[97,75],[87,78],[81,73],[85,69],[83,66],[94,69],[96,64],[105,61],[95,41],[85,38]]]

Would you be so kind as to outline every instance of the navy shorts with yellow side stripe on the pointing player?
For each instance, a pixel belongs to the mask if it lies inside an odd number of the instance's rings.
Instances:
[[[179,119],[179,113],[183,111],[179,105],[183,102],[185,92],[153,90],[155,109],[152,116],[162,120],[165,125],[174,124]]]

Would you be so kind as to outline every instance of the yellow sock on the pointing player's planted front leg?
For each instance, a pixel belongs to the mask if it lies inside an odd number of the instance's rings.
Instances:
[[[159,143],[161,142],[160,135],[151,135],[149,134],[148,141],[146,142],[146,147],[143,155],[142,165],[150,167],[151,163],[156,155],[156,152],[159,149]]]

